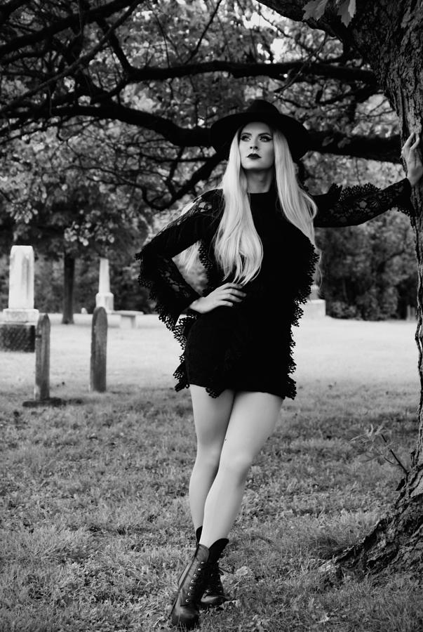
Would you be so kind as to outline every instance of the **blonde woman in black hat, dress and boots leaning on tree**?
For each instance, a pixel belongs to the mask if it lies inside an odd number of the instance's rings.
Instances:
[[[403,147],[408,178],[384,190],[332,185],[311,196],[298,185],[294,164],[307,151],[309,134],[263,100],[216,121],[211,140],[229,157],[222,188],[194,200],[136,255],[140,283],[184,349],[175,390],[190,388],[196,428],[189,504],[197,546],[170,614],[183,628],[199,623],[201,606],[226,599],[218,560],[248,470],[284,398],[295,397],[291,327],[319,259],[314,226],[361,223],[392,206],[410,213],[411,185],[423,174],[419,138],[411,145],[410,135]],[[197,252],[206,268],[202,296],[172,261],[182,251],[188,268]],[[183,310],[187,316],[177,324]]]

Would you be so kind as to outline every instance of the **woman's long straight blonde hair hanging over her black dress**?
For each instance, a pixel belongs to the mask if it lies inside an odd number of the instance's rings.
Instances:
[[[224,272],[224,279],[234,275],[234,283],[246,284],[260,272],[263,260],[263,245],[255,229],[247,192],[247,177],[241,166],[239,137],[243,127],[236,132],[229,151],[227,168],[222,177],[224,211],[213,238],[215,260]],[[313,244],[321,259],[321,251],[316,246],[313,219],[317,205],[306,191],[300,187],[295,173],[288,141],[278,129],[273,130],[274,178],[279,204],[284,216],[301,230]],[[191,204],[182,213],[191,208]],[[282,211],[280,211],[282,212]],[[198,252],[198,244],[190,246],[180,255],[180,263],[186,270],[192,267]],[[321,279],[321,270],[316,269]]]

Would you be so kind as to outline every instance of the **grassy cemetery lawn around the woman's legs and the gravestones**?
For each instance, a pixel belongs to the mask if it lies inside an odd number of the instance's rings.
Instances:
[[[298,395],[251,470],[222,562],[232,600],[202,615],[204,632],[422,629],[422,586],[407,574],[325,586],[318,572],[396,496],[401,471],[383,456],[368,461],[351,439],[383,423],[408,465],[414,329],[329,318],[295,329]],[[86,322],[53,323],[51,395],[69,402],[60,409],[23,408],[34,356],[1,357],[1,632],[167,629],[193,550],[191,400],[172,377],[179,345],[154,316],[136,330],[110,327],[109,390],[98,395],[88,393],[89,340]]]

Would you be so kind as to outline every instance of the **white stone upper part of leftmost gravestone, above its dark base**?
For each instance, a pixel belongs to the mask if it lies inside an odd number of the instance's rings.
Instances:
[[[4,310],[6,322],[36,322],[34,310],[34,249],[12,246],[9,272],[9,303]]]

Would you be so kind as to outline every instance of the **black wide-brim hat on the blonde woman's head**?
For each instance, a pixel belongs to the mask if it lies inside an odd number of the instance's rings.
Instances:
[[[244,112],[229,114],[215,121],[210,127],[210,143],[217,153],[227,158],[236,131],[241,126],[257,121],[266,123],[283,133],[288,141],[293,160],[299,160],[309,150],[311,136],[304,125],[293,117],[281,114],[275,105],[263,99],[254,100]]]

